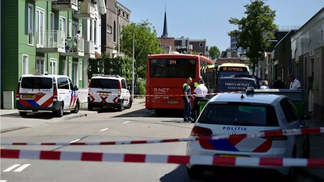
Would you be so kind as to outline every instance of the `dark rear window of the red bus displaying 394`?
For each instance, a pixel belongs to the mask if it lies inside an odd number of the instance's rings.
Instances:
[[[151,59],[149,62],[151,78],[195,78],[195,59]]]

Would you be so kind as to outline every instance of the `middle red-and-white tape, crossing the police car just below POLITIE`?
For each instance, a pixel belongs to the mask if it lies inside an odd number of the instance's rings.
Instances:
[[[144,143],[167,143],[167,142],[191,142],[199,140],[218,140],[218,139],[242,139],[254,137],[281,137],[289,135],[302,135],[312,133],[324,133],[324,127],[321,128],[305,128],[295,130],[277,130],[277,131],[262,131],[258,133],[243,133],[236,135],[221,135],[196,138],[176,138],[164,140],[134,140],[134,141],[114,141],[114,142],[56,142],[56,143],[18,143],[18,142],[0,142],[0,145],[125,145],[125,144],[144,144]]]

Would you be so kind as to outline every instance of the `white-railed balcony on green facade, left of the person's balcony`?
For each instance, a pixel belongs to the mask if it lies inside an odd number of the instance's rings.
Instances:
[[[58,30],[37,31],[37,52],[63,53],[65,52],[65,33]]]

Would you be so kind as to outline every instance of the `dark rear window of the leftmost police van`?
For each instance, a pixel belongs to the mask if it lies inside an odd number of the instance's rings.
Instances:
[[[53,87],[53,79],[44,77],[23,77],[20,85],[21,88],[26,89],[51,89]]]

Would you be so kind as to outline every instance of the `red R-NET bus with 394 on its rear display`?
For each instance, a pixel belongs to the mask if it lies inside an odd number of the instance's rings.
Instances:
[[[203,68],[214,64],[207,57],[178,52],[147,55],[145,108],[155,110],[156,113],[164,109],[183,109],[182,96],[174,95],[183,94],[182,85],[187,77],[192,78],[193,84],[203,73]]]

